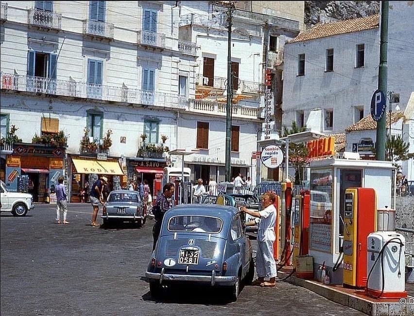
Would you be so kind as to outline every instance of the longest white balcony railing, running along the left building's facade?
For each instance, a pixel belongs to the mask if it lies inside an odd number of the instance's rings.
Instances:
[[[97,84],[58,80],[44,77],[1,73],[1,89],[33,93],[46,93],[66,97],[96,99],[129,104],[186,108],[187,97],[183,95],[113,87]]]

